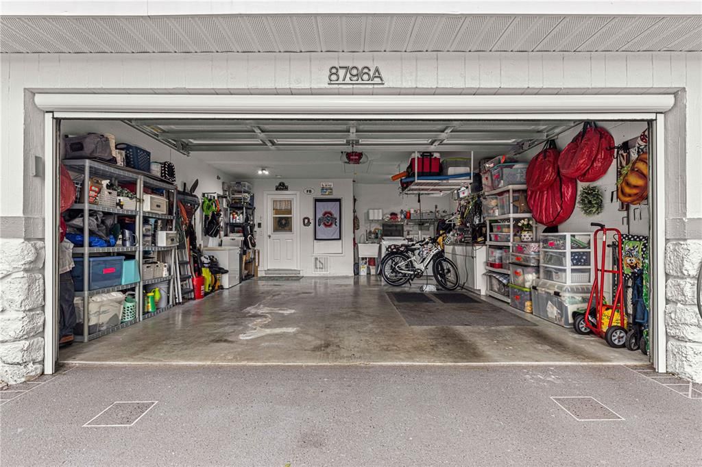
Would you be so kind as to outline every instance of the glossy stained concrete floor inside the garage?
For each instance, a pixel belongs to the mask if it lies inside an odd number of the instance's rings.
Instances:
[[[60,360],[133,364],[647,363],[638,351],[610,348],[602,339],[579,336],[512,311],[496,300],[489,304],[513,314],[478,305],[483,311],[496,311],[503,322],[524,325],[410,326],[386,292],[418,292],[420,285],[388,287],[376,276],[249,280],[89,344],[73,344],[60,351]],[[403,306],[411,311],[415,304]],[[472,305],[465,305],[465,310],[461,305],[452,306],[457,315],[471,313]]]

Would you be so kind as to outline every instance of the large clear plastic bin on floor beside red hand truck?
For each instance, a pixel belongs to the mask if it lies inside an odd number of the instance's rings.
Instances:
[[[534,315],[539,318],[571,327],[573,316],[585,313],[590,299],[590,285],[563,285],[543,279],[531,287]]]

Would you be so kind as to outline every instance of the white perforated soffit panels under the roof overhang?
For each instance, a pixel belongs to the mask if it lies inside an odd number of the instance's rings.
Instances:
[[[697,51],[702,16],[2,17],[3,53]]]

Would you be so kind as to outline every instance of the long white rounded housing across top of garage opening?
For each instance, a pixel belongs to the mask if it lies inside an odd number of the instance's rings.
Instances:
[[[673,95],[156,95],[37,93],[45,111],[285,114],[578,114],[664,112]]]

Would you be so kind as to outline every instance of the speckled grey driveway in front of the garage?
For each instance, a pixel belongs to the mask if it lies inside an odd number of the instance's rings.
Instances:
[[[702,455],[702,386],[649,367],[80,365],[39,381],[0,391],[4,466],[698,466]],[[95,419],[117,401],[142,405]]]

